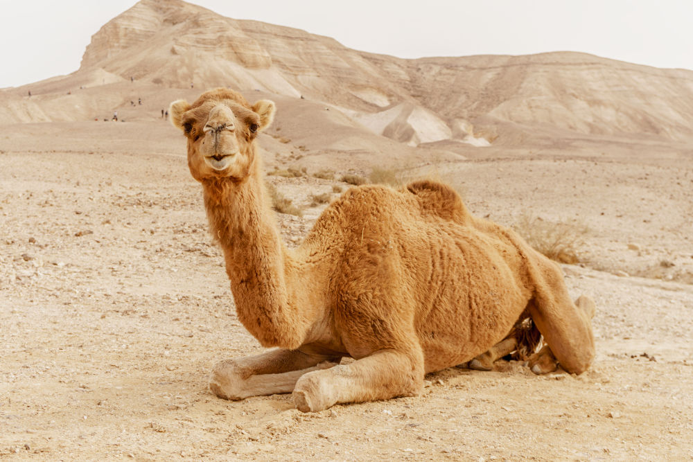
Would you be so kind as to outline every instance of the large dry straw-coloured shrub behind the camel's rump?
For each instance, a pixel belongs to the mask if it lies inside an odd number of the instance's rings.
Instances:
[[[547,222],[523,212],[515,231],[536,251],[560,263],[579,263],[580,247],[585,244],[587,226],[576,222]]]

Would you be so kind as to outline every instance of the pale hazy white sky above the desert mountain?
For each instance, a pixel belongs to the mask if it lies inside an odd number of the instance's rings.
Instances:
[[[91,35],[137,0],[0,0],[0,88],[76,71]],[[691,0],[195,0],[221,15],[398,57],[584,51],[693,69]]]

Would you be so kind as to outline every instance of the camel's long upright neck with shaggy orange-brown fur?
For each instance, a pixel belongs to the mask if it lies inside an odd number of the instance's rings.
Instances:
[[[267,203],[258,161],[252,169],[242,181],[204,181],[204,206],[224,250],[238,319],[263,346],[298,348],[307,322],[290,300],[290,254]]]

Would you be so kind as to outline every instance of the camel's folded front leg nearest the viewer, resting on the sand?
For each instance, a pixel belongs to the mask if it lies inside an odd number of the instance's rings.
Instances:
[[[303,375],[293,397],[299,411],[322,411],[340,402],[414,396],[423,388],[421,355],[379,350],[351,364]]]

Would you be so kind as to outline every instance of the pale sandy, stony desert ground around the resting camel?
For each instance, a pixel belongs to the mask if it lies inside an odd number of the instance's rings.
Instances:
[[[437,166],[478,215],[588,224],[584,265],[563,268],[597,302],[593,367],[450,368],[423,396],[301,414],[287,395],[207,389],[215,362],[261,347],[183,154],[163,122],[0,128],[0,459],[693,458],[690,157],[488,150]],[[335,184],[272,181],[299,204]],[[290,245],[318,211],[281,215]]]

